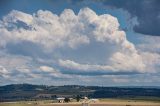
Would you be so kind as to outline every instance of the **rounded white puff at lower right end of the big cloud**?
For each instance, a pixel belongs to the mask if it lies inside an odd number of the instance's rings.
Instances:
[[[141,55],[136,53],[132,54],[123,54],[117,52],[113,54],[110,58],[112,67],[119,71],[137,71],[137,72],[145,72],[145,64],[142,60]]]

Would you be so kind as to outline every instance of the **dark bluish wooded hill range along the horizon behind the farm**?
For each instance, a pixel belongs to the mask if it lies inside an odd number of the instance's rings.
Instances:
[[[159,87],[46,86],[12,84],[0,86],[0,101],[55,99],[77,95],[90,98],[160,97]]]

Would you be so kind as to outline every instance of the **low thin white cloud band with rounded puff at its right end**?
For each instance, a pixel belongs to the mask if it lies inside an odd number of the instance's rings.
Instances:
[[[109,64],[80,64],[73,60],[59,60],[59,65],[72,70],[81,70],[86,72],[145,72],[145,64],[140,55],[123,54],[117,52],[108,60]]]

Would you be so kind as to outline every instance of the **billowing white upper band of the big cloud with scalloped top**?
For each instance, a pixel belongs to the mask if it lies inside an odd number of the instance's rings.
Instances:
[[[27,28],[19,27],[20,22]],[[125,48],[132,46],[126,40],[125,32],[119,29],[117,18],[109,14],[97,15],[89,8],[81,9],[78,15],[65,9],[60,16],[43,10],[33,15],[13,10],[1,21],[0,33],[1,46],[24,40],[46,48],[75,48],[89,44],[93,38],[99,42],[118,43]]]

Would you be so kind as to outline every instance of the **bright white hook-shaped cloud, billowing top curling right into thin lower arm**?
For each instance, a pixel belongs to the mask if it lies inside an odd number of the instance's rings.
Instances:
[[[3,46],[11,42],[29,41],[50,49],[67,46],[76,48],[94,40],[101,43],[109,42],[122,49],[108,59],[111,65],[80,65],[73,61],[64,61],[67,65],[71,63],[70,66],[74,69],[82,66],[82,70],[141,72],[145,67],[134,45],[127,40],[125,32],[120,30],[117,18],[109,14],[97,15],[89,8],[81,9],[77,15],[71,9],[66,9],[59,16],[43,10],[33,15],[13,10],[1,23]],[[22,23],[25,26],[21,25]],[[62,61],[60,63],[65,66]]]

